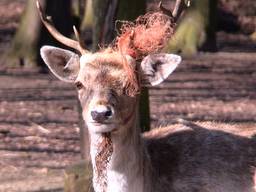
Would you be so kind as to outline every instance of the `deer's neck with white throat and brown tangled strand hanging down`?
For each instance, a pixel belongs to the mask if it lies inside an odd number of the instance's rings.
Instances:
[[[134,114],[123,126],[125,127],[118,128],[123,131],[121,134],[108,133],[107,139],[106,135],[91,135],[93,184],[96,192],[148,191],[144,187],[147,182],[144,178],[147,160],[137,125],[137,115]],[[106,152],[103,152],[105,155],[101,159],[99,154],[102,153],[102,146],[106,147]],[[102,164],[99,159],[103,160]]]

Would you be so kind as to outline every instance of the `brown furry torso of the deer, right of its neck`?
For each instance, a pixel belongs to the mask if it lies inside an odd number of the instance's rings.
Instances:
[[[178,124],[146,133],[154,191],[255,191],[255,139],[212,126]]]

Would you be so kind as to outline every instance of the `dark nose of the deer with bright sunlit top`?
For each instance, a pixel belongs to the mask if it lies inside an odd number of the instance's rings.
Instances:
[[[91,111],[91,117],[94,121],[98,123],[103,123],[104,121],[110,119],[113,115],[113,112],[108,106],[97,106]]]

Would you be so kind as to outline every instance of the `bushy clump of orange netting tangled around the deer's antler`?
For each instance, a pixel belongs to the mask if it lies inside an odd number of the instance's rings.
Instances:
[[[160,12],[140,16],[135,22],[123,22],[116,39],[117,49],[141,59],[161,50],[173,34],[173,28],[170,17]]]

